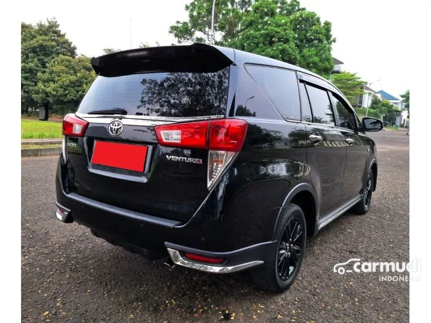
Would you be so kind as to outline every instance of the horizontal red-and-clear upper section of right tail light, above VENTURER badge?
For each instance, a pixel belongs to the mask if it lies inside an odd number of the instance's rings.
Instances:
[[[219,119],[155,126],[161,146],[240,151],[247,133],[247,122]]]

